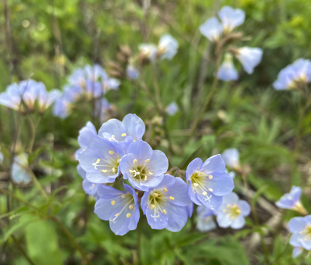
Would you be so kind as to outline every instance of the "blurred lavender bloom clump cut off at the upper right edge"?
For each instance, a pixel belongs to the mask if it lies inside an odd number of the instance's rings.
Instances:
[[[296,89],[300,84],[307,84],[310,81],[311,61],[299,58],[279,72],[273,87],[276,90]]]

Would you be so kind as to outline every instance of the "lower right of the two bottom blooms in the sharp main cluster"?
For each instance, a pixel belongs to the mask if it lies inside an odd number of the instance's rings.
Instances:
[[[141,207],[153,229],[180,231],[187,222],[190,204],[187,184],[181,178],[165,174],[156,188],[142,196]]]

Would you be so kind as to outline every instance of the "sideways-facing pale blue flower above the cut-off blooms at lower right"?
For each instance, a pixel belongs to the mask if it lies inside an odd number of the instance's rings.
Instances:
[[[279,201],[276,202],[276,206],[283,209],[291,209],[296,212],[307,214],[306,209],[300,202],[301,188],[292,186],[289,193],[285,193]]]

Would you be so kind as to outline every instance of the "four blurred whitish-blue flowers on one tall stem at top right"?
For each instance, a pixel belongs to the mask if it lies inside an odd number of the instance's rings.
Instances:
[[[234,35],[234,28],[240,26],[245,20],[245,13],[241,9],[232,7],[222,7],[218,12],[218,18],[211,17],[201,26],[200,32],[210,41],[218,43],[220,40],[240,39],[240,35]],[[248,74],[254,72],[254,68],[261,62],[262,49],[244,46],[241,48],[229,49],[224,55],[224,60],[217,72],[217,77],[223,81],[238,80],[239,74],[234,67],[233,55],[242,63],[242,66]]]

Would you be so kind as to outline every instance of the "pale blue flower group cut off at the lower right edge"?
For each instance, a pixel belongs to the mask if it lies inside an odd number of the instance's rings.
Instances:
[[[293,257],[299,256],[303,249],[311,250],[311,215],[308,215],[300,201],[301,188],[293,186],[289,193],[285,193],[276,206],[283,209],[290,209],[299,212],[304,217],[294,217],[288,223],[288,229],[293,235],[290,244],[294,247]]]

